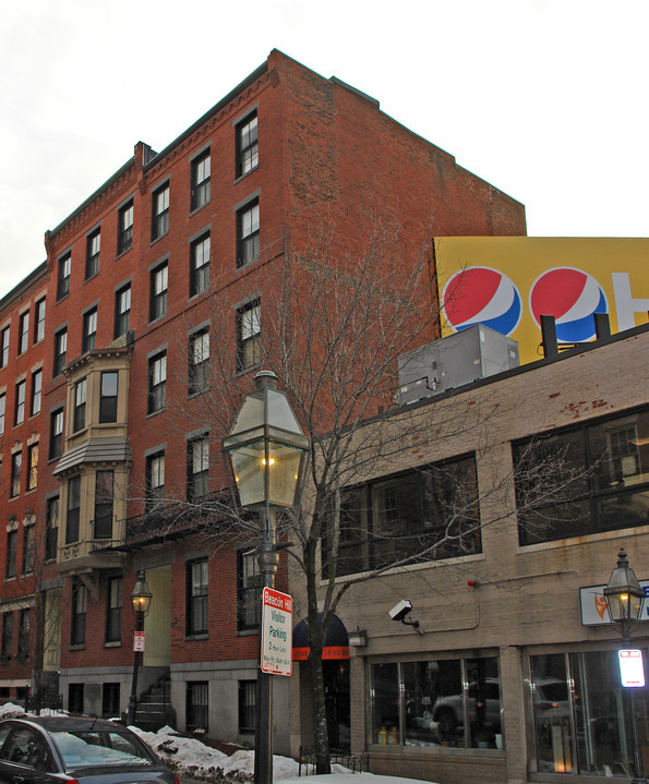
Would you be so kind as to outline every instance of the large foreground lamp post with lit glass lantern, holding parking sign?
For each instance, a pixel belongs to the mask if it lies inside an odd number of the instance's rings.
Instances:
[[[262,588],[274,588],[279,564],[275,514],[297,505],[310,442],[288,398],[277,389],[277,376],[261,371],[254,383],[255,388],[245,396],[232,430],[223,441],[223,449],[232,467],[241,506],[260,514],[257,562]],[[273,782],[272,677],[262,672],[260,651],[254,784]]]

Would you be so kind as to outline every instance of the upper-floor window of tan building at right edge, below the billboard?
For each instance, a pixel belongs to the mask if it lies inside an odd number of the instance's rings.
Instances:
[[[513,445],[520,544],[649,521],[649,409]]]

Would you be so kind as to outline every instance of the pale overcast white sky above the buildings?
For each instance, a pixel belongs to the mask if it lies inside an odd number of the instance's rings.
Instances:
[[[133,154],[273,48],[527,207],[531,236],[648,237],[647,0],[0,0],[0,295]]]

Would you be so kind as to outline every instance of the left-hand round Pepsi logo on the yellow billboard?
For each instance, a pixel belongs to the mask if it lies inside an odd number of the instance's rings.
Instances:
[[[456,273],[444,287],[442,305],[455,331],[483,324],[503,335],[516,329],[522,311],[514,282],[491,267],[467,267]]]

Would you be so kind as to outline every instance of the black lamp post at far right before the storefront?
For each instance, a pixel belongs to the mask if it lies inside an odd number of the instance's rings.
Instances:
[[[634,624],[640,619],[645,591],[642,591],[638,582],[636,572],[628,565],[624,547],[620,548],[617,566],[613,569],[609,584],[604,588],[604,598],[611,620],[618,625],[623,639],[627,640],[630,637]],[[640,747],[640,735],[638,732],[638,720],[636,716],[636,689],[629,687],[628,690],[630,698],[630,732],[635,769],[632,784],[647,784],[642,762],[642,749]]]

